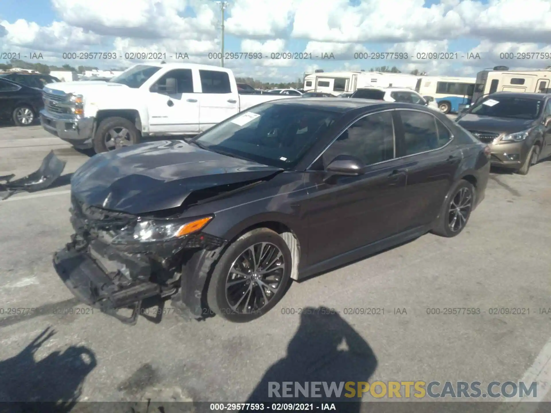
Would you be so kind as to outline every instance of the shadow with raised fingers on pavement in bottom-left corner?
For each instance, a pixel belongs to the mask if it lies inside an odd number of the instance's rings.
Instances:
[[[77,403],[96,357],[87,347],[71,346],[36,361],[35,353],[54,334],[48,327],[18,355],[0,361],[0,413],[68,413]]]

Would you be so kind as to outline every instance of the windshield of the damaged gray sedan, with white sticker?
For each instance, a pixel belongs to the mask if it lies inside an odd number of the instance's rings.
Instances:
[[[340,113],[307,105],[267,102],[192,140],[204,149],[292,169]]]

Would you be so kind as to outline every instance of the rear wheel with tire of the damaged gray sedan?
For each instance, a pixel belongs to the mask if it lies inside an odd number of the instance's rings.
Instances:
[[[472,183],[461,180],[453,186],[446,199],[432,233],[451,238],[459,235],[467,225],[474,205]]]

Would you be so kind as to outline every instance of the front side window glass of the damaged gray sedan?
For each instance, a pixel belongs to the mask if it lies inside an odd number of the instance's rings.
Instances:
[[[339,155],[355,156],[365,165],[393,159],[392,112],[374,113],[354,122],[323,153],[323,166],[319,167],[326,168]]]

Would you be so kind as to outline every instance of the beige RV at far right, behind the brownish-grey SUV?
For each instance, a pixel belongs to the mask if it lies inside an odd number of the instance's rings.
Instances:
[[[509,70],[505,66],[477,73],[473,102],[495,92],[551,93],[551,70]]]

